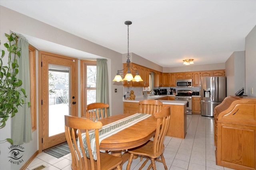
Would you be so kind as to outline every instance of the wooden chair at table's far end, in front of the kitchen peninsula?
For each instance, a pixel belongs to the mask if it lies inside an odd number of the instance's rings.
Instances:
[[[139,113],[147,113],[154,115],[155,112],[158,112],[162,109],[163,103],[159,100],[142,100],[139,102]]]

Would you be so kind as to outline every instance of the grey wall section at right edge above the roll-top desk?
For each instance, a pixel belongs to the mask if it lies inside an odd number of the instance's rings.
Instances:
[[[256,97],[256,25],[245,38],[245,92]],[[253,88],[253,94],[251,90]]]

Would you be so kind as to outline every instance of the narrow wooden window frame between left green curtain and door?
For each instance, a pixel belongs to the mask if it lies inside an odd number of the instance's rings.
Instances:
[[[32,132],[36,130],[36,49],[28,46],[30,64],[30,113]]]

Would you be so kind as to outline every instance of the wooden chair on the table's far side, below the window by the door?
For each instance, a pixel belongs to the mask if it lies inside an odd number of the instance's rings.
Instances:
[[[107,117],[107,108],[109,104],[104,103],[92,103],[86,106],[86,118],[92,121],[97,121],[104,117]]]

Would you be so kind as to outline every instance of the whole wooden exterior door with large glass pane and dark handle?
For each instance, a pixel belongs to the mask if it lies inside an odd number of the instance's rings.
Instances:
[[[42,82],[42,150],[66,141],[64,115],[76,113],[76,62],[40,52]]]

